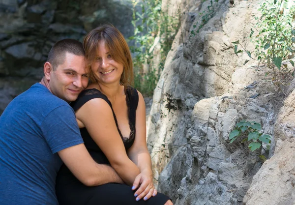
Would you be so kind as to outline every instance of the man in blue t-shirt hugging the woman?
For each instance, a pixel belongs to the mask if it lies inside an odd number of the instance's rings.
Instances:
[[[88,186],[123,183],[111,167],[90,157],[68,105],[88,84],[84,55],[76,40],[57,42],[41,82],[1,115],[0,205],[58,205],[55,181],[62,161]]]

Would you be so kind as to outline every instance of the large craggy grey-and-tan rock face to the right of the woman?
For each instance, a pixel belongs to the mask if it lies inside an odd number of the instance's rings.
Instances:
[[[294,132],[294,117],[275,122],[284,94],[269,83],[268,68],[252,61],[243,65],[247,54],[234,54],[231,42],[236,40],[247,50],[254,48],[247,36],[258,2],[214,2],[214,15],[204,25],[199,13],[208,12],[210,0],[189,1],[184,6],[181,28],[154,90],[148,117],[154,182],[176,205],[243,203],[252,177],[263,164],[258,155],[264,152],[249,151],[247,144],[240,144],[242,136],[229,144],[236,122],[261,123],[262,132],[273,136],[273,142],[281,126],[285,135]],[[293,100],[285,100],[286,112],[293,112]]]

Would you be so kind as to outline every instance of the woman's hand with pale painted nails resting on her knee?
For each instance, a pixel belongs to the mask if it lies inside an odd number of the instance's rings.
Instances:
[[[143,171],[138,176],[136,176],[133,182],[132,190],[136,190],[134,194],[136,201],[139,201],[142,198],[144,198],[146,201],[151,196],[154,197],[157,195],[157,190],[155,189],[152,182],[151,170]]]

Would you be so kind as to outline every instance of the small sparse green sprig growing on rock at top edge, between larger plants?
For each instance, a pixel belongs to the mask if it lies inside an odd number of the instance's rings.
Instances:
[[[214,16],[218,1],[219,0],[214,0],[214,2],[216,2],[216,4],[213,5],[213,0],[210,0],[210,5],[207,6],[207,10],[199,13],[199,15],[202,16],[201,22],[199,25],[193,25],[193,29],[191,30],[192,36],[195,35],[195,29],[197,27],[198,27],[198,29],[196,30],[196,32],[198,33],[198,32],[200,32],[200,29],[202,29],[207,24],[207,22]]]

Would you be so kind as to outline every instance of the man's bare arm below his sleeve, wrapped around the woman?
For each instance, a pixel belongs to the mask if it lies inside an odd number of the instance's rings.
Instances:
[[[104,164],[97,164],[84,144],[60,150],[59,157],[69,170],[86,186],[105,183],[124,183],[116,171]]]

